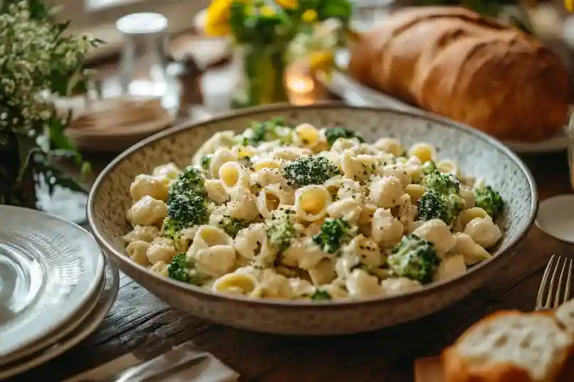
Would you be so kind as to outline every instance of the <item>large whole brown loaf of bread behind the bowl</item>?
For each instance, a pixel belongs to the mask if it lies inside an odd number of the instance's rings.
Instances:
[[[568,74],[531,36],[460,7],[395,11],[351,48],[360,83],[503,140],[562,129]]]

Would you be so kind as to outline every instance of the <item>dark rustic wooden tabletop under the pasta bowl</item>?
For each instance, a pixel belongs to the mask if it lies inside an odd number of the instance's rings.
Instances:
[[[325,93],[315,95],[315,99],[325,97]],[[534,174],[541,199],[571,192],[565,154],[523,159]],[[94,160],[101,166],[110,158]],[[95,334],[11,381],[61,381],[140,346],[160,346],[170,339],[194,341],[239,372],[241,382],[408,382],[414,359],[439,354],[485,314],[496,309],[532,309],[548,258],[570,252],[568,245],[533,227],[508,267],[452,307],[374,333],[332,337],[276,336],[221,327],[177,312],[122,275],[118,299]]]

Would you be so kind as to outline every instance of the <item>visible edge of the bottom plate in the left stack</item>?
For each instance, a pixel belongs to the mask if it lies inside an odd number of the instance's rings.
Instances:
[[[104,259],[103,255],[100,255],[100,257]],[[56,358],[56,356],[63,354],[64,351],[67,351],[73,346],[79,344],[80,341],[92,334],[95,329],[98,329],[105,316],[110,312],[110,308],[112,307],[115,297],[118,295],[118,290],[120,289],[120,272],[118,271],[118,268],[111,265],[108,260],[104,260],[104,262],[105,283],[103,291],[98,299],[98,304],[95,305],[95,308],[90,312],[88,318],[85,319],[84,322],[81,322],[81,324],[74,329],[74,331],[68,334],[68,336],[61,339],[56,344],[53,344],[53,346],[50,346],[47,349],[42,349],[35,354],[31,354],[31,356],[28,356],[25,359],[21,359],[13,364],[8,364],[3,367],[0,371],[0,380],[15,376],[19,373],[24,373],[24,371],[28,371],[31,368],[35,368]]]

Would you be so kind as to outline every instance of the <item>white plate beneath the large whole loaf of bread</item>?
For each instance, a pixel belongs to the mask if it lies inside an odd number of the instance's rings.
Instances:
[[[333,70],[331,73],[320,71],[317,73],[319,82],[327,87],[328,90],[343,98],[350,105],[354,106],[371,106],[371,107],[393,107],[397,110],[417,110],[418,107],[402,102],[395,97],[390,97],[382,92],[373,90],[370,87],[362,85],[345,74],[345,68],[349,63],[349,53],[346,50],[338,51],[335,55],[335,63],[339,70]],[[570,106],[572,112],[574,106]],[[506,146],[515,152],[521,153],[543,153],[558,152],[567,149],[568,137],[565,131],[558,132],[555,137],[543,142],[511,142],[503,141]]]

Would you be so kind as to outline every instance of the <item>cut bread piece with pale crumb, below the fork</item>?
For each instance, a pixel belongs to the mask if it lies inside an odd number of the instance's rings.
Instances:
[[[574,303],[562,309],[574,329]],[[442,354],[445,382],[553,382],[574,346],[552,312],[503,311],[481,319]]]

